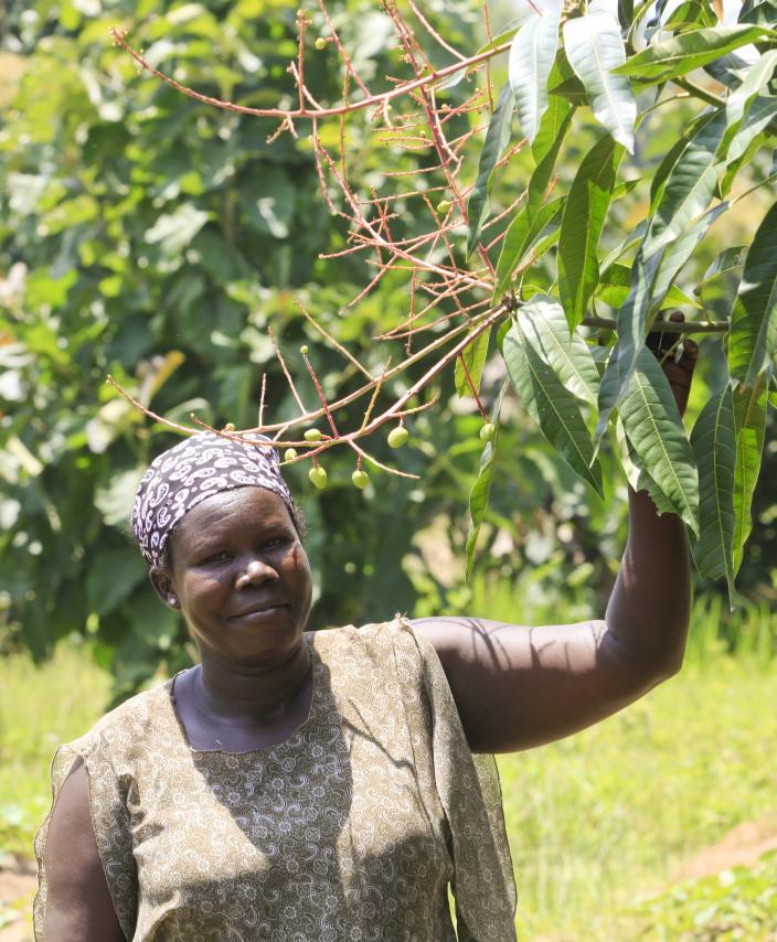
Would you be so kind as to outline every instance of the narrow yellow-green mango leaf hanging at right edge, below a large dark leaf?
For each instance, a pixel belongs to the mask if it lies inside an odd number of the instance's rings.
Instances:
[[[734,389],[736,467],[734,468],[734,571],[738,571],[744,546],[753,528],[753,491],[760,471],[766,437],[768,384],[760,377],[754,386]]]

